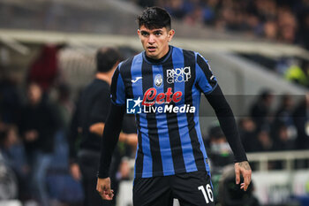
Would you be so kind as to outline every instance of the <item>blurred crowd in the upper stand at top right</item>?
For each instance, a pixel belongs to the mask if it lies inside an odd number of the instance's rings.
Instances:
[[[141,6],[162,6],[189,25],[244,32],[309,49],[308,0],[139,0]]]

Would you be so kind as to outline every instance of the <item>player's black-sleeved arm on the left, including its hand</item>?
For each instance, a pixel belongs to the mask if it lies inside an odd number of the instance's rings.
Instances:
[[[96,190],[105,200],[111,200],[113,198],[113,191],[110,189],[109,165],[111,156],[117,145],[123,118],[124,106],[117,106],[111,103],[102,137],[101,158],[96,186]]]

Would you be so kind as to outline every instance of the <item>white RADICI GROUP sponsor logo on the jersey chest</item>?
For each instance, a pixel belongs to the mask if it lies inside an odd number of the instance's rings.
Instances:
[[[191,78],[191,67],[168,69],[166,77],[169,84],[188,81]]]

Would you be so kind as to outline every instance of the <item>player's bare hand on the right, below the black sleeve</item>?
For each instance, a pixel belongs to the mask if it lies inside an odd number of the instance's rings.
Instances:
[[[251,182],[251,167],[247,161],[235,164],[236,184],[240,183],[240,174],[244,177],[244,182],[241,183],[241,189],[247,190]]]

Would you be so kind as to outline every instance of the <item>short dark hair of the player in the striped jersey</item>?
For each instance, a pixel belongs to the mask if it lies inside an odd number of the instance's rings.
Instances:
[[[137,18],[139,28],[145,26],[148,29],[167,27],[170,29],[170,13],[160,7],[147,7]]]

